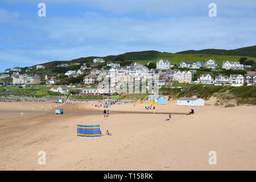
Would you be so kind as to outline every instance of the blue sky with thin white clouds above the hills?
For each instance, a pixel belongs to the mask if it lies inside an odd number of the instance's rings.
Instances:
[[[255,0],[1,0],[0,72],[131,51],[254,46],[255,33]]]

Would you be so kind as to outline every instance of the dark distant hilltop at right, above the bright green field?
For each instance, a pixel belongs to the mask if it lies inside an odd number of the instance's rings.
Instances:
[[[178,54],[210,54],[210,55],[229,55],[229,56],[250,56],[256,57],[256,46],[243,47],[238,49],[203,49],[199,51],[189,50],[176,52]]]

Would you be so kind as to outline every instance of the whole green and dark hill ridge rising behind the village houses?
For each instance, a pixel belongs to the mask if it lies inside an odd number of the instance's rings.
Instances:
[[[180,64],[181,61],[204,61],[206,59],[214,59],[219,66],[225,60],[238,61],[241,57],[247,57],[247,60],[254,60],[256,62],[256,46],[244,47],[240,49],[225,50],[225,49],[203,49],[200,51],[183,51],[177,53],[158,52],[158,51],[140,51],[140,52],[126,52],[122,54],[125,61],[135,61],[143,65],[148,61],[156,63],[158,59],[170,59],[171,64]],[[115,57],[120,55],[110,55],[102,57],[106,61],[114,61]],[[92,63],[97,56],[80,57],[79,59],[69,61],[51,61],[42,65],[47,69],[55,68],[56,65],[62,63]]]

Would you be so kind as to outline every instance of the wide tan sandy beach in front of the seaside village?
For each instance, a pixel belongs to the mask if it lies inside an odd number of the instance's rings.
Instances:
[[[168,114],[152,114],[144,109],[148,103],[113,105],[108,118],[95,104],[0,102],[0,169],[256,169],[255,106],[224,108],[207,101],[204,107],[193,107],[195,114],[184,115],[190,107],[170,101],[156,105],[156,110],[180,114],[165,122]],[[64,114],[54,114],[56,108],[63,108]],[[148,114],[140,113],[145,111]],[[109,130],[113,135],[77,137],[77,124],[100,124],[102,132]],[[39,151],[46,152],[46,165],[38,164]],[[216,165],[209,165],[209,151],[217,152]]]

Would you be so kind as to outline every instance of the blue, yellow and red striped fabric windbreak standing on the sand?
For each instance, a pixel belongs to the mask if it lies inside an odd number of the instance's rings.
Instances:
[[[77,125],[77,137],[101,137],[100,125]]]

